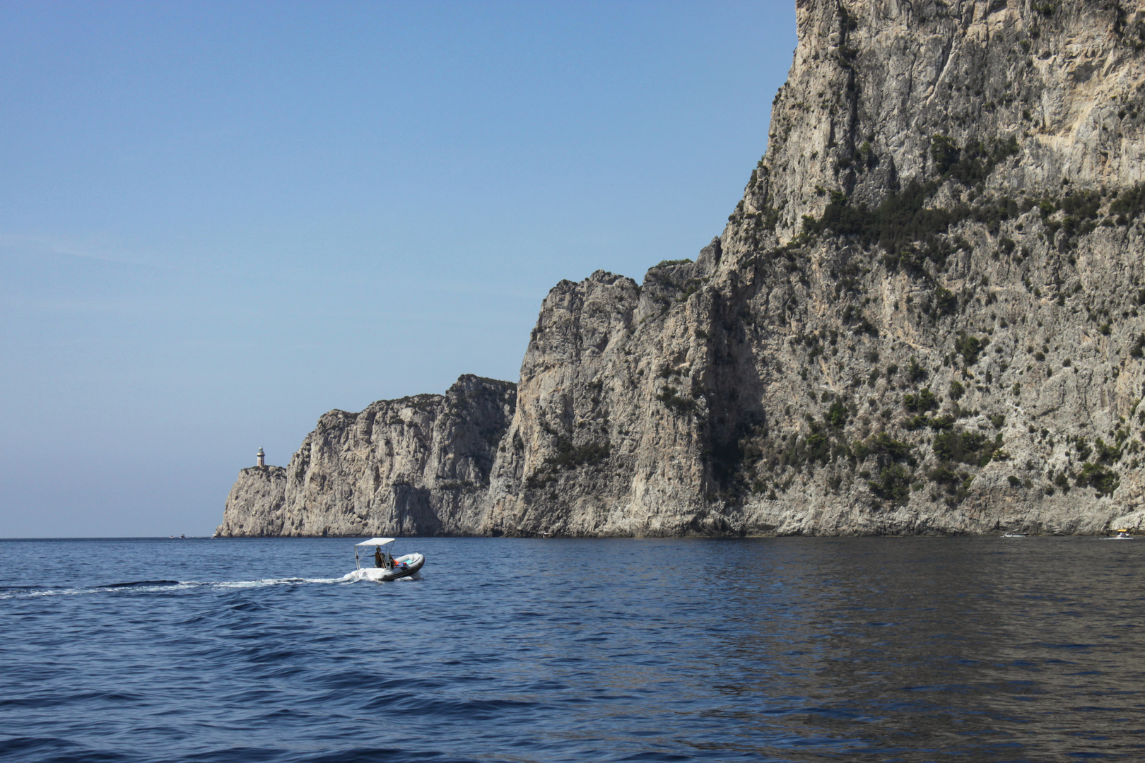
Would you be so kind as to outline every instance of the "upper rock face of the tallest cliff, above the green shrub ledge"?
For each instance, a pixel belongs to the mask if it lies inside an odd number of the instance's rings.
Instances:
[[[1143,18],[1124,0],[797,2],[791,73],[737,212],[777,214],[788,240],[830,191],[881,201],[941,174],[935,134],[960,146],[1014,137],[986,178],[1011,193],[1145,180]]]

